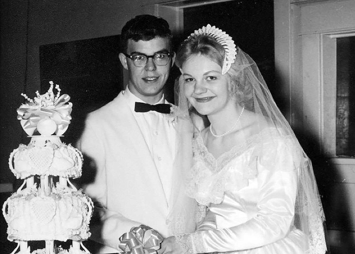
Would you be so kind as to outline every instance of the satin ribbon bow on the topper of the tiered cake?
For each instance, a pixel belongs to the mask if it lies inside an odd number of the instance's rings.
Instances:
[[[63,94],[53,104],[53,106],[42,107],[35,104],[22,104],[17,109],[17,119],[20,120],[22,128],[28,135],[32,135],[37,129],[40,120],[50,118],[57,124],[56,135],[65,133],[71,120],[72,103],[70,96]]]

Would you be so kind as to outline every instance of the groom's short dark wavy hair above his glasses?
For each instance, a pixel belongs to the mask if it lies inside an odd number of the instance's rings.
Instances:
[[[153,15],[138,15],[129,20],[121,31],[121,52],[126,53],[129,39],[151,40],[155,37],[168,38],[171,47],[173,35],[164,18]]]

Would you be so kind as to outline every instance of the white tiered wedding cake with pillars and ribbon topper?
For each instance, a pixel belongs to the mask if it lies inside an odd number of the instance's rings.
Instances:
[[[2,213],[8,224],[9,241],[17,242],[15,253],[31,254],[28,241],[45,241],[45,249],[32,254],[89,253],[82,241],[90,236],[91,199],[77,190],[69,178],[81,177],[82,154],[60,136],[70,124],[72,103],[69,95],[47,93],[27,99],[17,109],[22,128],[31,137],[29,144],[13,150],[9,166],[22,186],[7,199]],[[25,187],[26,185],[26,187]],[[54,240],[72,240],[68,250],[54,246]],[[80,245],[84,250],[80,249]]]

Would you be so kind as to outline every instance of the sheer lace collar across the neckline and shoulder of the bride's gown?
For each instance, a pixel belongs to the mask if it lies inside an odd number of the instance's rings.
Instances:
[[[194,164],[188,175],[187,194],[203,205],[219,204],[225,191],[240,190],[257,177],[257,164],[271,170],[296,170],[296,158],[301,154],[294,147],[291,137],[278,134],[276,129],[265,129],[215,158],[198,134],[193,142]],[[275,160],[274,155],[280,152],[286,156],[279,157],[282,161]],[[278,167],[286,160],[291,160],[294,167]]]

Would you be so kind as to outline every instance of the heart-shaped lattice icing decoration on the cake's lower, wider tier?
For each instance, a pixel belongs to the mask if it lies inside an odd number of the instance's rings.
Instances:
[[[49,223],[56,210],[55,201],[50,197],[35,197],[30,202],[31,215],[40,223]]]

